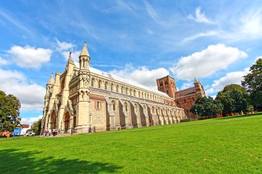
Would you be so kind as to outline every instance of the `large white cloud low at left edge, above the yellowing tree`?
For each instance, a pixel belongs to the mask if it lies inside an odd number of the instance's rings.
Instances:
[[[21,72],[0,69],[0,89],[6,94],[17,96],[21,102],[21,110],[43,109],[46,89],[36,83],[29,83]]]

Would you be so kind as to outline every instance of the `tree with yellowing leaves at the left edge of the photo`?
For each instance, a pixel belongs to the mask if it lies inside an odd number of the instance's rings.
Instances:
[[[0,91],[0,131],[13,131],[20,124],[20,107],[17,97]]]

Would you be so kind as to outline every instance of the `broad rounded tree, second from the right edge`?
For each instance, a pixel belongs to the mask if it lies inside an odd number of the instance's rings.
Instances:
[[[219,91],[216,96],[223,104],[223,114],[248,111],[250,109],[248,92],[241,85],[226,85],[223,91]]]

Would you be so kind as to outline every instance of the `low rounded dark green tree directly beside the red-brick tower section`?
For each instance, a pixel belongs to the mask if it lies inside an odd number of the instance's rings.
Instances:
[[[222,113],[223,105],[219,100],[210,97],[197,98],[190,111],[196,116],[212,118]]]

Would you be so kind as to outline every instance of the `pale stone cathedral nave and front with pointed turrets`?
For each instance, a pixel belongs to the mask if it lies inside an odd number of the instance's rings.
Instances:
[[[69,56],[65,72],[51,75],[46,85],[42,132],[56,128],[88,133],[180,122],[186,118],[184,109],[165,92],[90,67],[84,43],[79,66]]]

